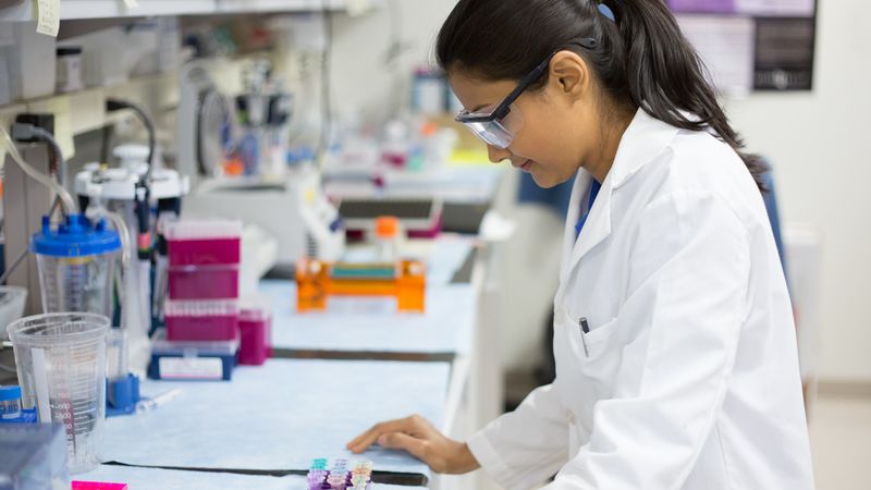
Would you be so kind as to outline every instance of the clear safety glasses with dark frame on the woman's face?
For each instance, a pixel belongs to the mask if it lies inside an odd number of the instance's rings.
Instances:
[[[586,49],[596,49],[599,46],[599,42],[592,38],[582,38],[572,44]],[[548,70],[553,56],[557,52],[560,52],[560,50],[552,52],[544,61],[536,66],[535,70],[526,75],[517,87],[515,87],[499,106],[495,106],[495,108],[486,108],[482,111],[476,112],[463,110],[459,111],[454,120],[463,123],[483,143],[499,149],[507,148],[523,127],[523,117],[517,107],[514,106],[514,101],[517,100],[530,85],[541,78]]]

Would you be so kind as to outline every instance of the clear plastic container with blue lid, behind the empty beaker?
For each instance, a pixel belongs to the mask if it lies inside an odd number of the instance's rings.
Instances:
[[[105,221],[91,225],[82,215],[71,215],[52,229],[42,218],[42,231],[30,244],[39,267],[45,313],[83,311],[112,317],[112,274],[118,233]]]

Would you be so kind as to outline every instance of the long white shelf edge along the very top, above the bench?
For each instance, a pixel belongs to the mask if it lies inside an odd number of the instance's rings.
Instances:
[[[123,0],[61,0],[61,20],[208,15],[223,13],[308,12],[324,8],[342,10],[353,0],[138,0],[135,8]],[[0,0],[0,22],[36,19],[32,0]]]

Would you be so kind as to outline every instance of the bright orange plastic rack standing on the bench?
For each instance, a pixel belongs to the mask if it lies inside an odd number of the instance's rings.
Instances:
[[[330,296],[393,296],[398,311],[424,313],[426,267],[418,260],[330,264],[304,258],[296,264],[296,309],[327,309]]]

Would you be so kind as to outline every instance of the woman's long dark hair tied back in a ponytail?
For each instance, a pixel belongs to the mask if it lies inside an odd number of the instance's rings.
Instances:
[[[599,10],[605,4],[612,21]],[[573,44],[599,40],[596,49]],[[556,50],[572,50],[592,66],[619,108],[690,131],[713,130],[744,160],[760,191],[765,166],[743,151],[704,69],[663,0],[459,0],[436,46],[441,68],[481,79],[520,79]],[[548,82],[548,73],[532,89]],[[687,115],[691,114],[691,115]]]

